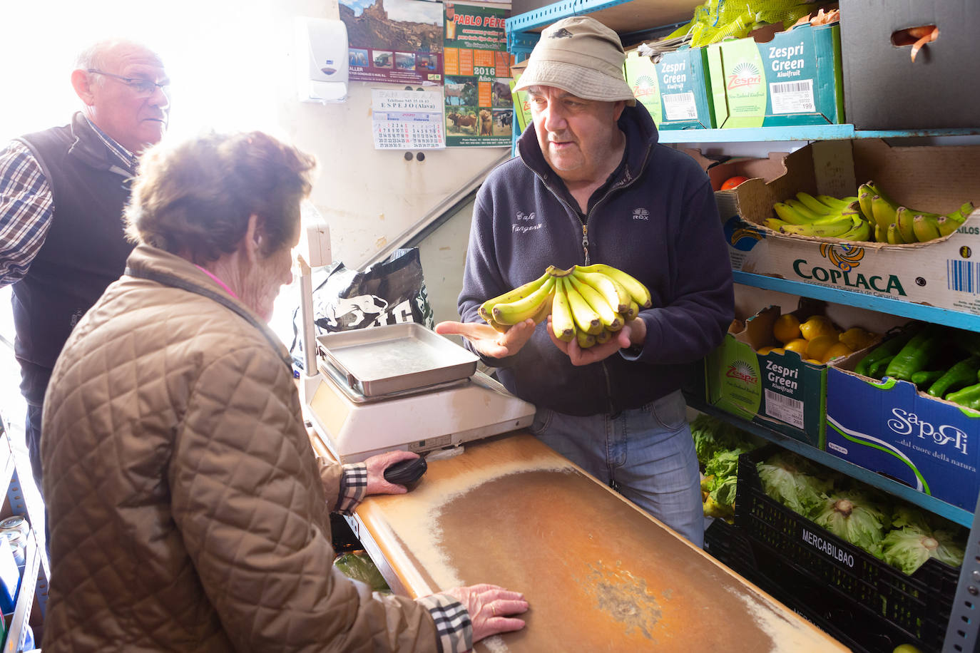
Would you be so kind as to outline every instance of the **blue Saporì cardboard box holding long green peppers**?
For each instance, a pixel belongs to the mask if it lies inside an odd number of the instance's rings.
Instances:
[[[827,370],[827,451],[973,512],[980,490],[980,413],[919,393],[907,381]]]

